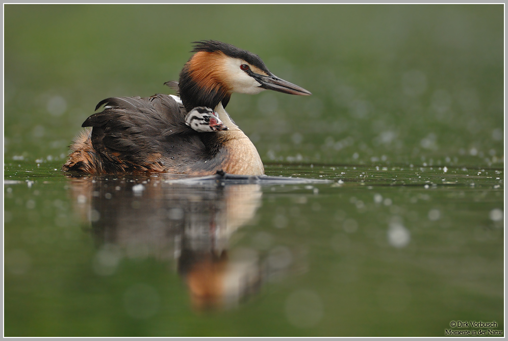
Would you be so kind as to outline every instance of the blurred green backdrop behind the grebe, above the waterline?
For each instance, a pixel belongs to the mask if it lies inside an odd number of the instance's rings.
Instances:
[[[171,93],[163,83],[202,39],[256,53],[313,93],[233,96],[228,112],[264,162],[502,158],[502,5],[4,9],[8,159],[63,159],[101,99]]]

